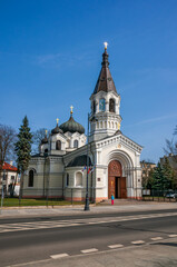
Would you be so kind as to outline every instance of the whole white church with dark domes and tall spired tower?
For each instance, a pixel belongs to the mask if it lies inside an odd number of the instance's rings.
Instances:
[[[90,96],[89,134],[73,118],[42,139],[31,157],[23,181],[23,197],[85,200],[88,174],[90,200],[141,198],[142,147],[120,131],[120,95],[112,80],[107,43],[101,70]],[[87,166],[88,155],[88,170]]]

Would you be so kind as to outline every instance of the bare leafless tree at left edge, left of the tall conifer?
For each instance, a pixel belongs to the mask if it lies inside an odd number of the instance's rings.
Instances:
[[[14,157],[16,130],[10,126],[0,125],[0,175],[6,160]]]

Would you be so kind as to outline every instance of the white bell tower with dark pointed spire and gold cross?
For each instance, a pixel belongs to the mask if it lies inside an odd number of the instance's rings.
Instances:
[[[115,82],[112,80],[107,46],[105,42],[105,51],[102,53],[101,70],[90,97],[91,116],[90,116],[90,141],[99,140],[108,136],[112,136],[120,130],[121,117],[120,96],[117,93]]]

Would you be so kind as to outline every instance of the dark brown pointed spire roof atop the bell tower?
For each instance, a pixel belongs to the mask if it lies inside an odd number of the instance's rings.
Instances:
[[[94,93],[97,93],[99,91],[105,91],[105,92],[114,91],[117,93],[115,82],[111,78],[110,70],[109,70],[108,57],[109,55],[107,52],[107,48],[105,48],[105,52],[102,53],[102,63],[101,63],[102,68],[99,73]]]

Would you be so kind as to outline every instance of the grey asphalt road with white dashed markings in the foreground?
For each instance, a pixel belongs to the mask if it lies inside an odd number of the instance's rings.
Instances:
[[[0,220],[0,266],[31,261],[36,266],[39,260],[173,239],[176,221],[177,209],[4,218]]]

